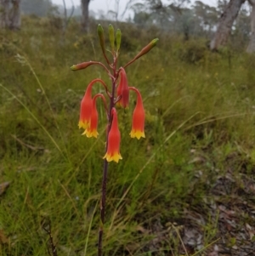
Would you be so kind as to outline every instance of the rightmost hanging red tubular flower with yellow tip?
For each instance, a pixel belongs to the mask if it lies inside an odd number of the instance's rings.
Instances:
[[[137,102],[133,111],[133,122],[132,122],[132,130],[131,130],[130,136],[131,138],[137,138],[137,139],[140,139],[141,137],[145,138],[145,135],[144,135],[145,113],[144,113],[142,96],[139,93],[139,90],[137,88],[130,87],[130,89],[135,91],[137,94]]]

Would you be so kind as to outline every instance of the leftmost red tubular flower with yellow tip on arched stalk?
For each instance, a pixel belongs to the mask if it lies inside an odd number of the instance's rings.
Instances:
[[[92,115],[92,105],[93,105],[91,91],[92,91],[92,86],[94,85],[94,82],[101,82],[106,88],[105,82],[99,78],[89,82],[88,88],[86,89],[86,92],[82,98],[80,120],[78,123],[79,128],[87,129],[90,126],[90,119]]]

